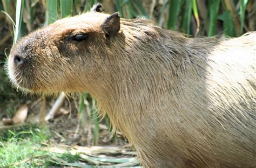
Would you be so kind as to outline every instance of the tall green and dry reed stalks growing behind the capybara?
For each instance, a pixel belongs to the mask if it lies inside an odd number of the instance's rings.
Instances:
[[[36,99],[12,88],[4,71],[12,44],[57,19],[86,12],[96,3],[101,3],[106,13],[119,11],[126,19],[152,19],[164,29],[192,37],[216,34],[238,37],[256,29],[254,0],[0,0],[0,118],[12,117],[21,104]],[[76,106],[70,110],[78,111],[80,121],[93,125],[87,132],[91,132],[90,144],[97,145],[100,118],[96,115],[95,101],[86,93],[71,101]],[[107,116],[101,122],[110,128]]]

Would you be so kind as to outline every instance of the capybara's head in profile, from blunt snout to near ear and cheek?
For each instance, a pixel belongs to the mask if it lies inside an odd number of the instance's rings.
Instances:
[[[12,47],[11,81],[30,92],[84,91],[109,72],[113,55],[108,46],[119,30],[118,13],[92,11],[32,32]]]

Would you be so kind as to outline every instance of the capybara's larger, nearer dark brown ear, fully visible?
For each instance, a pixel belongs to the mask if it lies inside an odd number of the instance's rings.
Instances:
[[[106,36],[117,34],[120,30],[120,15],[118,12],[107,17],[101,25]]]

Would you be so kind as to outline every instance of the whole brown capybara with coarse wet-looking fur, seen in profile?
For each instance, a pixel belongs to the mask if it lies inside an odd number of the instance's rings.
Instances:
[[[144,167],[255,167],[256,32],[188,38],[98,7],[19,40],[14,85],[90,93]]]

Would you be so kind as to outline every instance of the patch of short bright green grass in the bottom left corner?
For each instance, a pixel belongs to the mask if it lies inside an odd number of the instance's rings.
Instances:
[[[49,151],[49,131],[37,125],[25,125],[0,132],[0,167],[60,166],[52,160],[74,163],[78,155]]]

